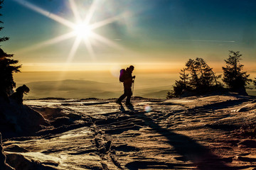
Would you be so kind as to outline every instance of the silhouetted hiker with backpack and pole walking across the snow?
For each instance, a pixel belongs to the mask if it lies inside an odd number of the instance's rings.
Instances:
[[[124,94],[122,94],[122,96],[120,96],[118,99],[117,99],[117,103],[122,105],[122,100],[127,97],[127,100],[126,100],[126,105],[129,106],[129,105],[132,105],[131,103],[131,97],[132,97],[132,83],[134,83],[134,79],[135,79],[135,76],[132,77],[132,72],[134,70],[134,66],[130,66],[130,67],[127,67],[127,69],[121,69],[120,71],[120,77],[119,77],[119,80],[121,82],[123,82],[124,84]]]

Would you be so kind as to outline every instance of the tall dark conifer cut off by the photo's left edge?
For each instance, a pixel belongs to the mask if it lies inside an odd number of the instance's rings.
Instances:
[[[0,8],[2,8],[2,4],[4,0],[0,0]],[[1,16],[1,13],[0,13]],[[0,21],[0,23],[3,23]],[[0,27],[0,31],[4,27]],[[9,40],[7,37],[0,38],[0,43]],[[4,50],[1,49],[0,45],[0,96],[7,97],[12,93],[12,89],[16,86],[14,82],[13,74],[14,72],[20,72],[19,68],[21,65],[14,65],[18,63],[18,60],[12,60],[11,57],[14,55],[7,54]]]

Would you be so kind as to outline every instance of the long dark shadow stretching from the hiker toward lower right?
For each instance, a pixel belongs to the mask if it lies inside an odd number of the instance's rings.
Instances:
[[[144,112],[138,112],[135,114],[139,119],[144,120],[144,125],[148,126],[155,132],[159,133],[160,135],[166,137],[167,143],[174,147],[174,150],[177,154],[180,154],[181,156],[186,159],[186,161],[191,161],[193,163],[193,166],[196,166],[200,170],[213,170],[213,169],[232,169],[228,165],[223,163],[223,160],[218,157],[217,155],[213,154],[210,149],[207,147],[204,147],[200,143],[198,143],[196,140],[191,139],[191,137],[188,137],[186,135],[178,134],[176,132],[173,132],[172,130],[169,130],[167,128],[161,127],[158,123],[156,123],[151,117],[146,115]],[[126,166],[129,169],[134,169],[134,166],[139,166],[138,168],[144,168],[142,164],[145,162],[130,162]],[[150,166],[150,164],[148,165]],[[169,166],[173,166],[169,164]]]

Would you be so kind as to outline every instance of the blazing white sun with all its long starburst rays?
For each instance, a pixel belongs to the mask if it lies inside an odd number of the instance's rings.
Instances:
[[[87,16],[85,16],[85,18],[82,18],[80,16],[80,11],[78,10],[78,6],[75,4],[75,0],[68,0],[70,4],[70,9],[71,11],[73,11],[73,14],[74,14],[75,22],[69,21],[54,13],[50,13],[49,11],[46,11],[43,8],[40,8],[34,4],[31,4],[27,0],[14,0],[14,1],[16,1],[18,4],[21,4],[22,6],[25,6],[26,8],[30,8],[31,10],[36,11],[37,13],[41,13],[43,16],[46,16],[52,19],[53,21],[61,23],[63,24],[63,26],[67,26],[68,28],[71,29],[70,33],[65,33],[63,35],[52,38],[50,40],[40,42],[36,45],[32,45],[31,47],[26,47],[24,49],[21,49],[18,51],[20,52],[20,54],[21,52],[25,53],[30,50],[36,50],[41,47],[53,45],[63,40],[68,40],[74,37],[75,37],[75,41],[70,49],[70,52],[68,53],[68,57],[66,60],[67,63],[73,60],[73,58],[75,57],[75,53],[78,50],[78,47],[80,47],[80,42],[82,41],[85,42],[85,47],[87,48],[87,51],[90,57],[92,58],[92,60],[95,60],[95,51],[93,50],[93,46],[91,42],[92,40],[101,42],[110,47],[114,47],[117,50],[124,50],[124,47],[122,47],[122,45],[119,45],[114,41],[106,38],[105,36],[102,36],[93,31],[97,28],[102,28],[103,26],[106,26],[114,21],[118,21],[120,18],[122,18],[122,15],[118,15],[118,16],[112,16],[110,18],[106,18],[102,21],[90,23],[93,15],[95,15],[95,13],[97,13],[96,11],[99,10],[97,9],[101,3],[101,1],[99,0],[92,0],[92,4],[90,5],[89,10],[87,11]]]

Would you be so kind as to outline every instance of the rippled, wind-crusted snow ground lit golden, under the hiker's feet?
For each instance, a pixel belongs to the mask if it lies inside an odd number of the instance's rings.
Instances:
[[[50,123],[4,140],[16,169],[254,169],[255,98],[27,100]],[[42,168],[43,167],[43,168]]]

